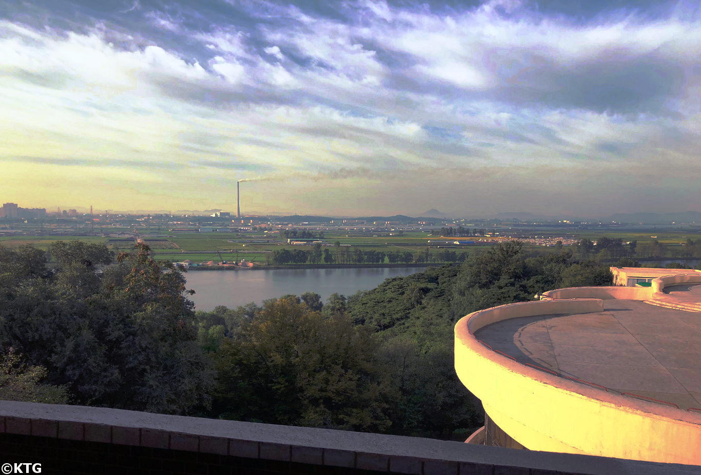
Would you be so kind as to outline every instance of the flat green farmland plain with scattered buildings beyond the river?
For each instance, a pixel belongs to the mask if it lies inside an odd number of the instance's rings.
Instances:
[[[701,243],[698,226],[649,226],[624,228],[614,226],[484,226],[452,228],[432,226],[16,226],[15,235],[2,235],[0,245],[19,247],[31,244],[48,249],[57,240],[83,240],[104,243],[114,252],[128,252],[137,240],[151,248],[154,259],[170,262],[190,261],[193,265],[214,261],[240,262],[253,266],[348,266],[361,264],[416,264],[460,262],[470,254],[484,252],[503,240],[519,239],[527,252],[552,253],[572,249],[581,258],[614,263],[620,257],[632,259],[693,258]],[[0,229],[1,230],[1,229]],[[448,233],[450,235],[444,235]],[[34,235],[32,235],[34,234]],[[299,238],[297,236],[304,236]],[[578,240],[597,242],[602,238],[619,240],[613,254],[601,249],[583,252],[571,245]],[[688,244],[691,240],[692,245]],[[558,241],[562,242],[560,245]],[[632,242],[632,244],[630,244]],[[557,243],[557,245],[556,245]],[[657,246],[652,249],[651,246]],[[581,255],[580,255],[581,254]]]

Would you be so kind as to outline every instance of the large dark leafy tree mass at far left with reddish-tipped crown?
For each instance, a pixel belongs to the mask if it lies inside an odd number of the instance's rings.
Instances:
[[[53,272],[36,250],[0,250],[0,345],[46,367],[47,383],[78,404],[166,413],[207,404],[212,373],[182,272],[146,245],[104,273],[90,261],[95,249],[68,249]],[[8,274],[21,268],[33,270]]]

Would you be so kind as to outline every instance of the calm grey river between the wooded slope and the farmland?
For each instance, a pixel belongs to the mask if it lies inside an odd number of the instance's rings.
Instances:
[[[319,294],[322,301],[334,292],[355,294],[374,289],[389,277],[422,272],[424,268],[332,268],[265,270],[191,270],[186,273],[186,287],[196,293],[189,297],[196,310],[210,311],[217,305],[236,308],[285,294]]]

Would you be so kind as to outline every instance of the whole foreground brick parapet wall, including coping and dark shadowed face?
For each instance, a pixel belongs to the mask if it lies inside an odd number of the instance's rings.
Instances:
[[[0,401],[0,432],[2,462],[39,462],[44,474],[701,474],[677,464],[15,401]]]

